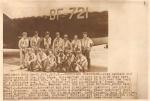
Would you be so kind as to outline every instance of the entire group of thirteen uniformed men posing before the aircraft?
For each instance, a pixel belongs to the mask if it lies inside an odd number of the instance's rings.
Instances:
[[[28,37],[27,32],[22,33],[18,43],[20,49],[20,68],[29,71],[45,72],[84,72],[90,68],[90,51],[93,41],[83,32],[83,38],[74,35],[72,41],[67,34],[56,37],[52,42],[50,33],[47,31],[40,38],[35,31],[33,37]]]

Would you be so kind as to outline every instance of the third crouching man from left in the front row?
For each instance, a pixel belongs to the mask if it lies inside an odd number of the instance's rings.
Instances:
[[[52,51],[49,50],[44,70],[46,72],[55,72],[56,71],[56,67],[57,67],[56,57],[54,56]]]

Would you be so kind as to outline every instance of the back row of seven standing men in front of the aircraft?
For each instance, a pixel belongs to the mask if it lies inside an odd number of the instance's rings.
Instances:
[[[87,58],[88,68],[90,67],[90,50],[93,46],[93,41],[87,36],[87,32],[83,32],[83,38],[80,40],[77,35],[74,35],[74,39],[70,42],[68,35],[65,34],[63,38],[60,37],[60,33],[56,32],[56,38],[53,40],[50,37],[50,33],[46,32],[44,38],[40,38],[38,36],[38,32],[34,33],[34,36],[29,38],[27,36],[27,32],[22,33],[22,38],[18,43],[20,49],[20,64],[21,68],[25,59],[25,50],[31,47],[35,54],[39,48],[44,49],[44,52],[48,54],[49,50],[52,50],[55,56],[59,54],[59,51],[62,50],[64,54],[67,51],[72,51],[74,55],[77,54],[78,51],[82,52],[82,54]]]

